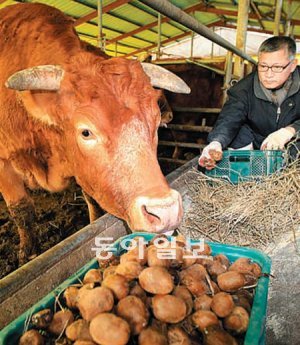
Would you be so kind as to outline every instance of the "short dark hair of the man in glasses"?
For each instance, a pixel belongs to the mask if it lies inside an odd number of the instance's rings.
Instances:
[[[292,60],[296,55],[296,43],[288,36],[273,36],[265,40],[258,49],[260,53],[273,53],[280,49],[286,48],[289,59]]]

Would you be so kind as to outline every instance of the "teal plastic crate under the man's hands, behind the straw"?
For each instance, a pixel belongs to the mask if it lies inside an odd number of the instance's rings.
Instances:
[[[282,169],[283,163],[283,151],[228,150],[223,152],[223,158],[217,166],[206,170],[205,174],[237,184],[260,180]]]

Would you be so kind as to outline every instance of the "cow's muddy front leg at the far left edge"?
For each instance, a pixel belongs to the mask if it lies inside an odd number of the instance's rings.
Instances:
[[[36,256],[35,210],[22,178],[7,160],[0,160],[0,192],[18,228],[19,264],[23,265]]]

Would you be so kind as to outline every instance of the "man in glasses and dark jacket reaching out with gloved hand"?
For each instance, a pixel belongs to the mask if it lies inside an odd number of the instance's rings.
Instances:
[[[257,71],[228,90],[199,164],[212,169],[225,148],[284,149],[300,131],[300,68],[296,43],[286,36],[264,41]]]

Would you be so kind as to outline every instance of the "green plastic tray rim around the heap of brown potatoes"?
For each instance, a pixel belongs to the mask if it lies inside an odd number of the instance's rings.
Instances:
[[[146,241],[150,241],[154,235],[149,233],[133,233],[124,237],[120,237],[113,247],[116,249],[114,255],[121,255],[124,249],[121,248],[121,241],[124,239],[131,239],[136,236],[143,236]],[[196,240],[191,240],[191,244],[196,244]],[[256,249],[231,246],[226,244],[207,242],[212,249],[212,255],[225,254],[231,262],[234,262],[239,257],[248,257],[262,267],[262,272],[270,273],[271,259]],[[51,308],[53,309],[55,297],[58,296],[69,285],[79,282],[84,274],[91,268],[98,267],[96,259],[92,259],[84,265],[79,271],[73,274],[70,278],[65,280],[56,289],[50,292],[38,303],[33,305],[25,313],[20,315],[17,319],[7,325],[0,331],[0,344],[1,345],[14,345],[18,344],[20,336],[24,332],[26,321],[31,318],[35,312]],[[249,327],[245,336],[244,345],[263,345],[265,344],[265,321],[267,313],[267,299],[268,299],[268,285],[269,277],[261,277],[255,289],[255,296],[253,300]],[[153,344],[154,345],[154,344]]]

